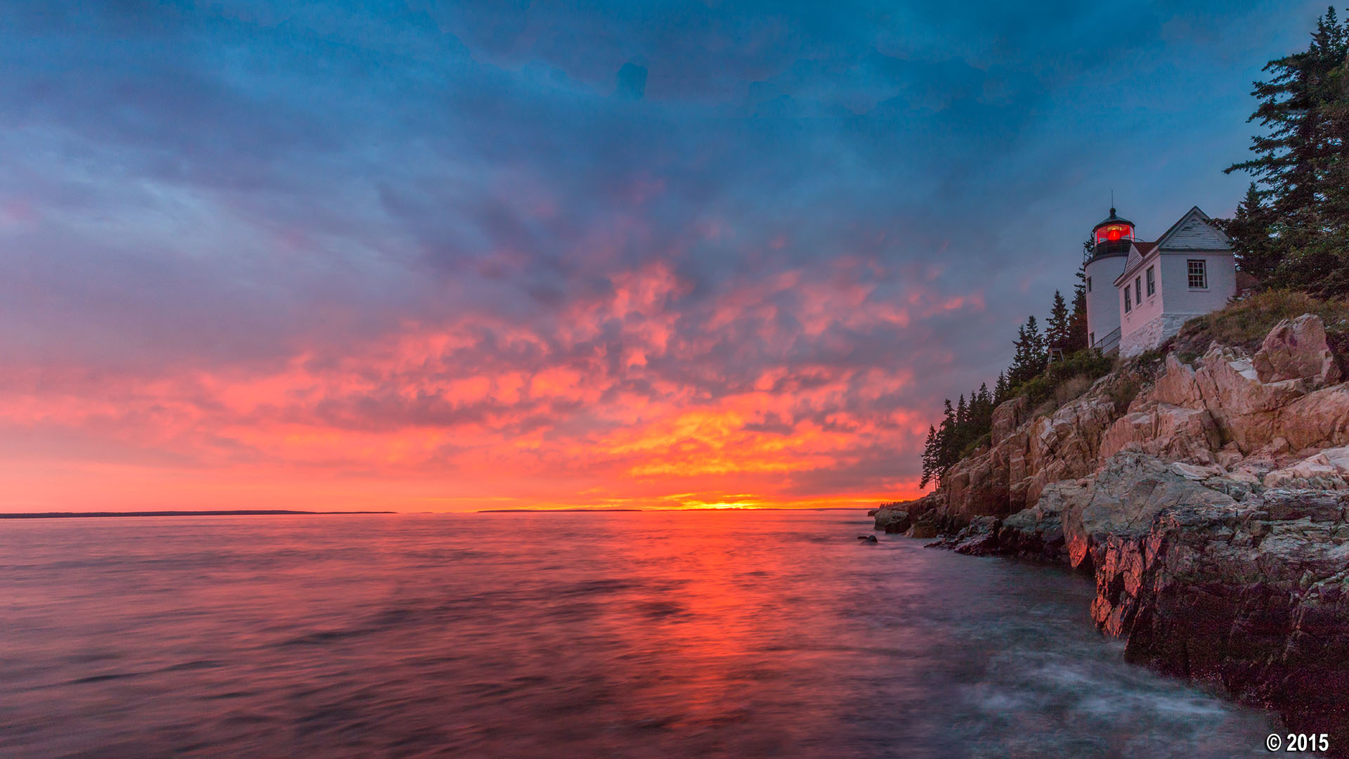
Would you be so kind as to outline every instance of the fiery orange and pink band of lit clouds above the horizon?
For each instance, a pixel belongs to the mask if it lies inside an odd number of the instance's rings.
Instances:
[[[902,362],[782,358],[745,378],[699,359],[726,350],[726,330],[759,340],[734,350],[772,355],[838,328],[912,328],[983,308],[978,293],[920,290],[873,304],[867,286],[835,280],[789,271],[746,284],[692,330],[668,308],[691,285],[652,265],[568,304],[546,332],[472,315],[264,366],[8,366],[0,509],[862,508],[915,497],[905,473],[928,419],[890,400],[913,382]],[[784,332],[792,323],[770,305],[788,297],[799,332]]]

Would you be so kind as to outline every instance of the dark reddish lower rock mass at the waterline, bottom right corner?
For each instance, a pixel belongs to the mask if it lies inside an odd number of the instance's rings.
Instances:
[[[1091,613],[1126,656],[1349,747],[1349,494],[1180,501],[1112,540]]]

